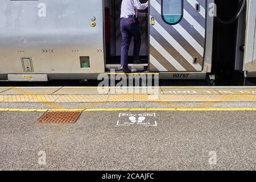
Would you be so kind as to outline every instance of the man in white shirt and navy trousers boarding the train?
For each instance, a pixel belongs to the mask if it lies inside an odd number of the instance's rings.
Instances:
[[[139,63],[139,52],[141,50],[141,32],[138,22],[138,10],[145,10],[148,7],[148,1],[141,3],[139,0],[123,0],[121,5],[120,30],[122,34],[121,48],[121,70],[125,73],[131,73],[128,68],[128,52],[131,38],[134,38],[133,60]]]

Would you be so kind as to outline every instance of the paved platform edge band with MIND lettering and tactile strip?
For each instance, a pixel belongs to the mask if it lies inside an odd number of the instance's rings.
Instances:
[[[256,87],[1,87],[0,102],[254,102]]]

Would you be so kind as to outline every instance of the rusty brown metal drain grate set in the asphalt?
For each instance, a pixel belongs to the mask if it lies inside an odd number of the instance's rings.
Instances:
[[[78,111],[59,111],[46,112],[40,119],[39,123],[75,123],[79,119],[82,112]]]

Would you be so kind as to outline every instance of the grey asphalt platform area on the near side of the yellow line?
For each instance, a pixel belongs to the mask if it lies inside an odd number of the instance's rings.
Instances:
[[[85,111],[75,124],[44,124],[36,122],[41,112],[2,111],[0,169],[256,169],[256,111],[128,112],[155,113],[144,121],[152,126],[123,126],[129,117],[120,113]]]

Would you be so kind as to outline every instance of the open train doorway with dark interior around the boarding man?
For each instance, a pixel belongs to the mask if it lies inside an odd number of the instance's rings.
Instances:
[[[141,1],[142,3],[146,0]],[[120,64],[122,36],[120,31],[120,14],[122,0],[104,0],[105,7],[105,63],[106,68],[115,68]],[[148,65],[148,9],[138,10],[141,28],[141,69],[146,70]],[[129,49],[129,64],[133,65],[133,40]]]

